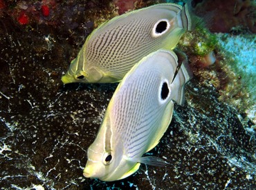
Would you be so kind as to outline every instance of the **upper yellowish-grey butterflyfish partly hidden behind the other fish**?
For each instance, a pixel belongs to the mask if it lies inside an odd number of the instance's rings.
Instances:
[[[172,50],[191,29],[187,6],[162,3],[114,17],[94,30],[63,83],[115,83],[144,56]]]

